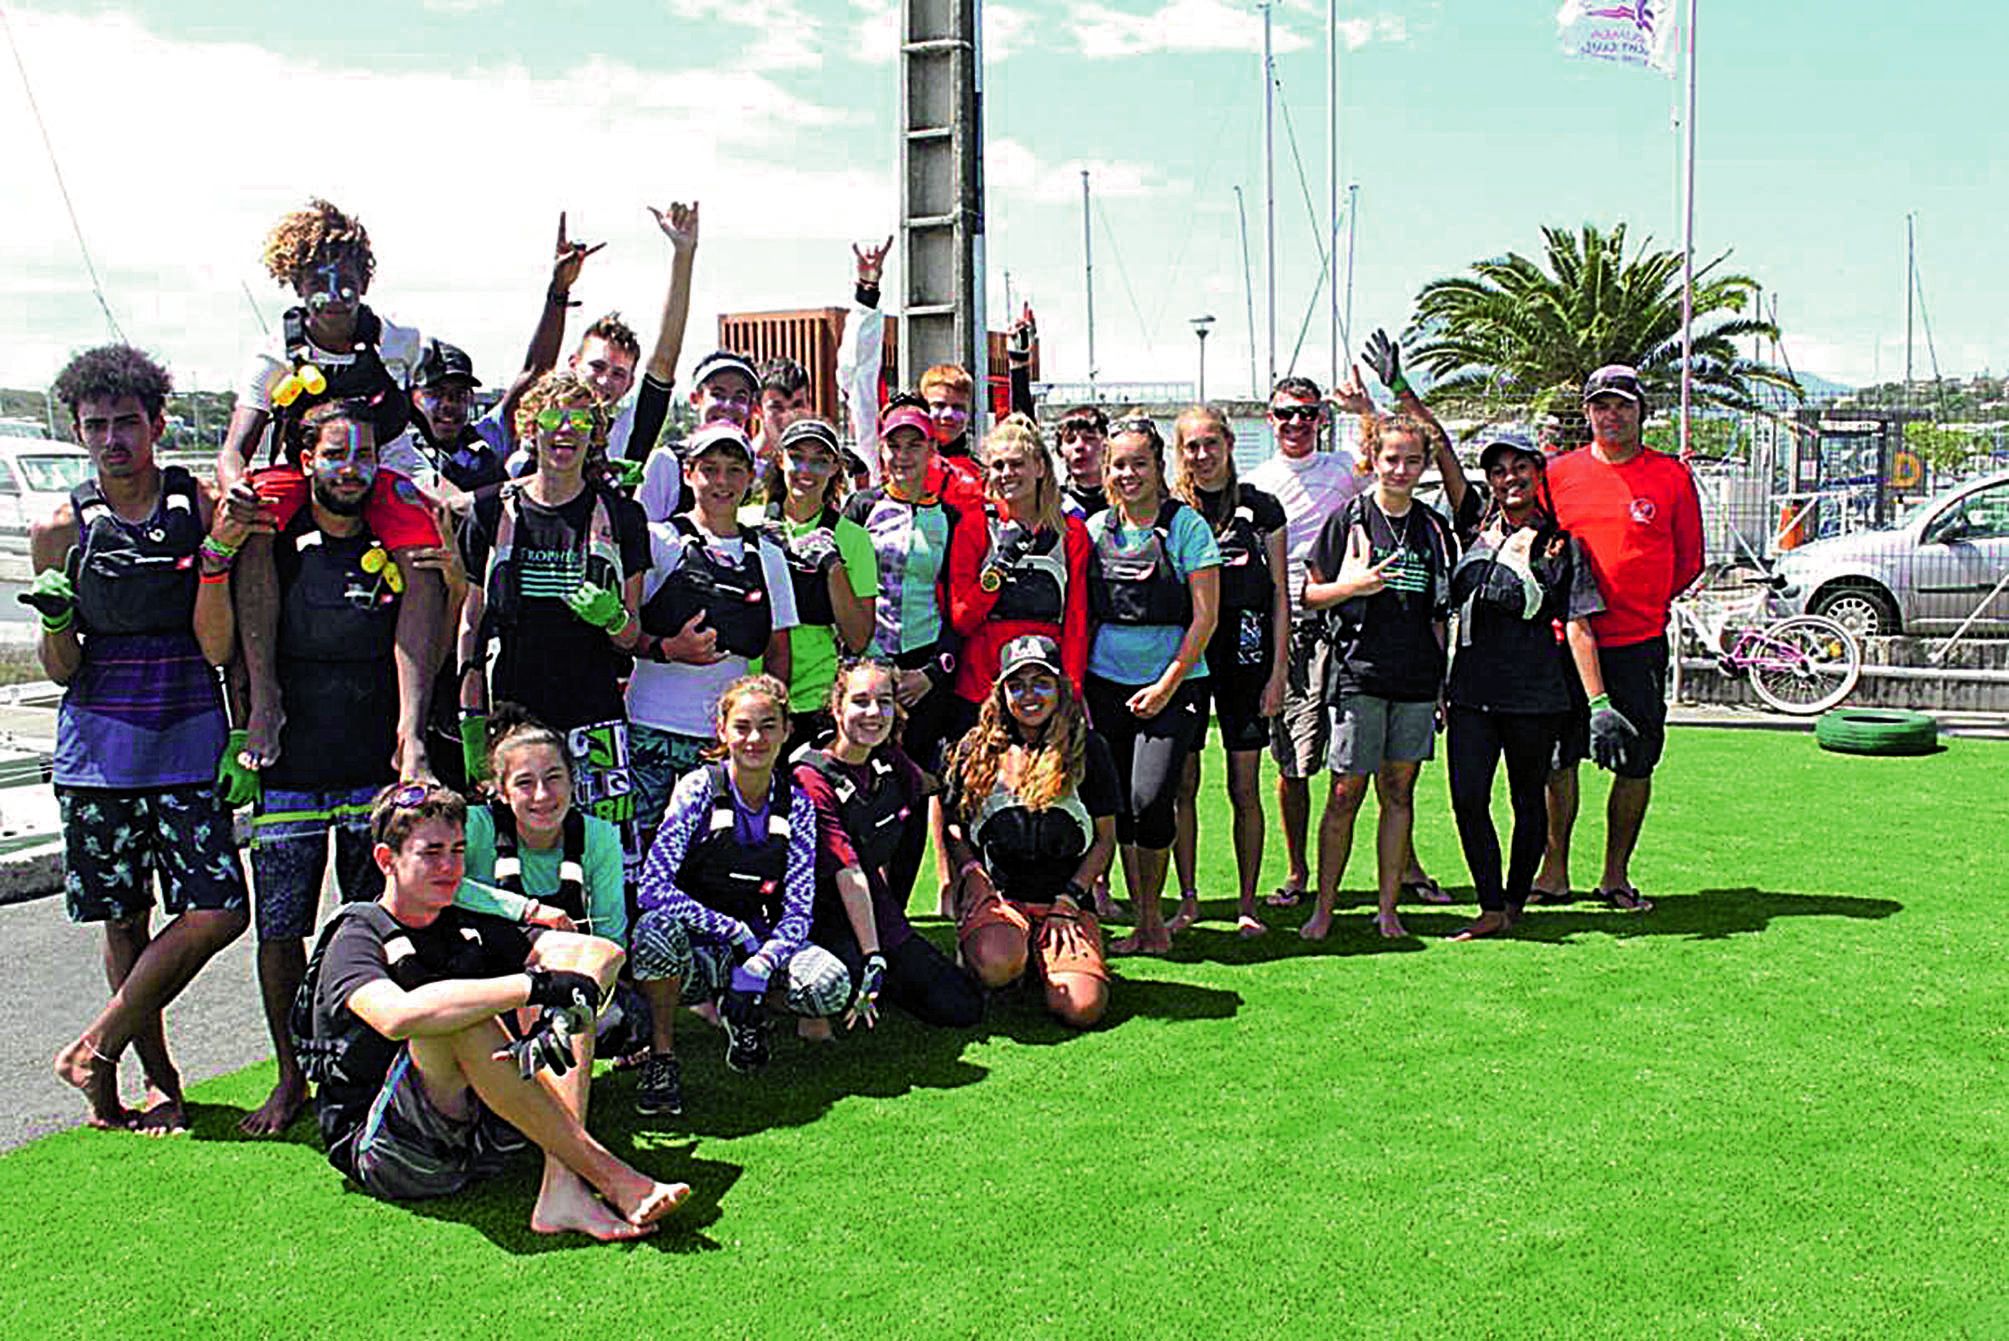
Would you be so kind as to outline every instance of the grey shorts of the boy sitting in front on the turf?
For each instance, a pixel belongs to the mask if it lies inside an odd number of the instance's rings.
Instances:
[[[474,1094],[468,1104],[466,1118],[434,1108],[410,1049],[400,1051],[356,1134],[356,1180],[384,1200],[452,1196],[500,1172],[512,1154],[530,1146]]]

